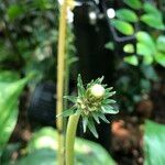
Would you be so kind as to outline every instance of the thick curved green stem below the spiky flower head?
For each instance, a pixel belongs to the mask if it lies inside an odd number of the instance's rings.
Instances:
[[[76,130],[79,120],[79,114],[73,114],[69,117],[67,130],[66,130],[66,165],[74,165],[75,153],[74,144],[76,138]]]

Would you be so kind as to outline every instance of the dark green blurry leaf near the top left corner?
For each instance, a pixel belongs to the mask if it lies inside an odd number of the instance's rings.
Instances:
[[[24,12],[25,12],[24,8],[19,4],[12,4],[7,10],[7,14],[10,21],[15,20],[18,16],[22,15]]]

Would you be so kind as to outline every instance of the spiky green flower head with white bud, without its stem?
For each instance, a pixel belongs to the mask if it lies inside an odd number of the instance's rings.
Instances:
[[[107,85],[102,85],[102,80],[103,77],[91,80],[86,87],[84,87],[81,77],[78,75],[78,96],[65,97],[72,101],[74,106],[61,114],[62,117],[68,117],[70,114],[81,116],[84,132],[86,132],[88,128],[96,138],[98,138],[98,133],[94,121],[100,123],[99,120],[102,119],[105,122],[109,123],[105,114],[118,113],[118,110],[110,106],[116,103],[114,100],[110,99],[116,91],[112,91],[112,87],[107,88]]]

